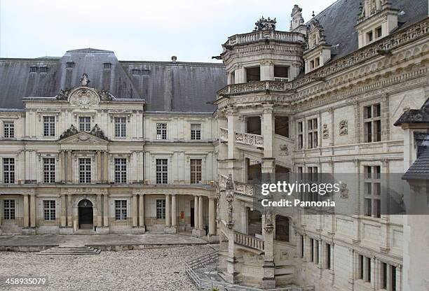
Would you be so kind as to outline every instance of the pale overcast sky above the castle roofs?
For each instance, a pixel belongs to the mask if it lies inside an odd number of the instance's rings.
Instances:
[[[288,31],[294,4],[311,19],[335,0],[0,0],[0,57],[113,50],[120,60],[219,62],[228,36],[261,16]]]

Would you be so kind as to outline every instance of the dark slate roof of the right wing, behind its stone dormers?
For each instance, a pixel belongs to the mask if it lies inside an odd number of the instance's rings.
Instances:
[[[338,0],[315,16],[325,29],[326,41],[332,45],[332,59],[338,59],[357,50],[355,25],[359,0]],[[363,1],[362,1],[363,2]],[[390,0],[392,8],[404,11],[398,15],[399,27],[404,27],[428,16],[428,0]]]

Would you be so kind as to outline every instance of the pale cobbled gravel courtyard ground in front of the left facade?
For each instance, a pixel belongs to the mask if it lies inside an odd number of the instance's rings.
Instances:
[[[48,276],[48,286],[0,290],[196,290],[184,262],[212,252],[210,246],[184,246],[102,252],[100,255],[41,256],[0,252],[0,277]]]

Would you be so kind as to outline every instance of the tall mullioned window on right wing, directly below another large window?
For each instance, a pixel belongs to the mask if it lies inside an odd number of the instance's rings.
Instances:
[[[381,166],[365,166],[365,216],[381,216]]]

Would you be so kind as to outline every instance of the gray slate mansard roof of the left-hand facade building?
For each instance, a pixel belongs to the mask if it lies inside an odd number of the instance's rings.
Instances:
[[[67,69],[67,63],[74,63]],[[110,64],[104,69],[104,64]],[[47,67],[46,73],[30,68]],[[111,50],[68,50],[62,57],[0,59],[0,108],[24,108],[24,97],[54,97],[79,85],[107,90],[118,99],[145,99],[150,111],[213,112],[209,102],[226,85],[223,64],[121,62]]]

